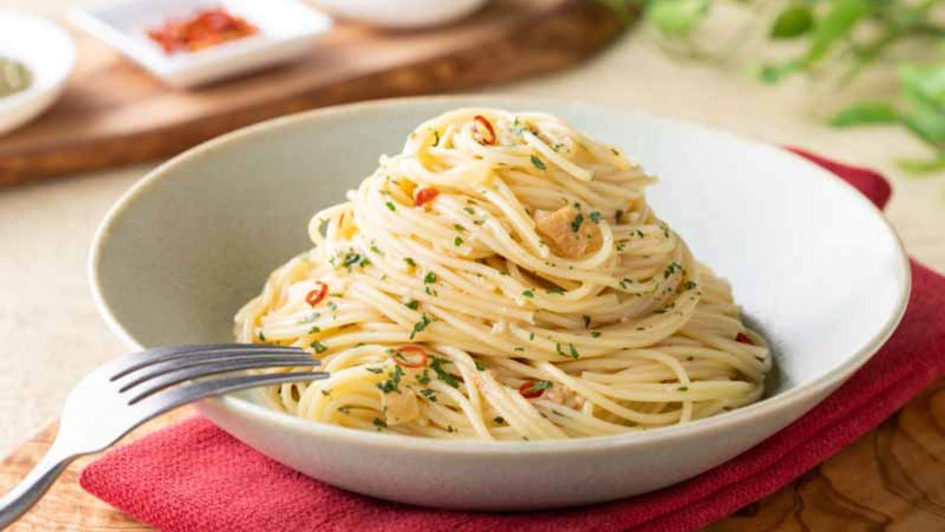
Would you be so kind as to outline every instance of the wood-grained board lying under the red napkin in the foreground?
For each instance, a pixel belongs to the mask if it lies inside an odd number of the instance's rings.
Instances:
[[[193,414],[189,408],[147,423],[123,443]],[[56,433],[36,434],[0,463],[0,493],[26,475]],[[10,532],[150,530],[85,493],[74,463]],[[945,531],[945,379],[929,386],[869,434],[791,485],[707,532]]]

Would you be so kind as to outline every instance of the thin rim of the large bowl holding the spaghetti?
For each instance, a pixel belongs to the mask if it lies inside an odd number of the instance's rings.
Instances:
[[[496,106],[507,106],[511,102],[516,102],[516,104],[522,104],[535,108],[541,108],[541,106],[560,107],[563,103],[564,105],[576,110],[608,110],[606,106],[596,105],[590,102],[582,102],[574,99],[562,100],[559,98],[532,98],[509,94],[457,94],[433,97],[385,98],[344,105],[335,105],[293,115],[284,115],[250,125],[230,133],[222,134],[215,137],[214,139],[199,144],[194,148],[183,151],[182,153],[159,165],[157,168],[147,172],[142,179],[131,186],[129,190],[126,191],[115,202],[115,204],[112,205],[112,208],[106,214],[105,218],[95,231],[92,242],[92,250],[89,255],[88,275],[96,309],[102,316],[102,319],[105,321],[108,328],[112,329],[112,332],[118,336],[118,338],[123,343],[136,350],[145,348],[145,346],[140,344],[135,339],[134,335],[131,334],[130,331],[121,324],[121,322],[112,312],[112,308],[102,291],[102,278],[99,275],[100,272],[98,269],[98,264],[101,258],[101,250],[109,239],[112,223],[116,222],[120,215],[129,208],[129,205],[134,203],[136,197],[146,193],[148,188],[155,186],[157,183],[162,181],[166,175],[168,175],[179,165],[185,164],[191,159],[203,156],[205,153],[225,149],[225,147],[232,141],[256,135],[264,135],[270,131],[279,130],[300,122],[318,121],[320,119],[335,115],[349,113],[356,114],[365,110],[383,110],[387,107],[395,107],[404,104],[425,105],[454,102],[456,105],[471,105],[473,101],[476,102],[475,105]],[[838,387],[840,384],[846,381],[846,379],[849,378],[853,372],[859,369],[860,366],[866,364],[869,358],[872,357],[872,355],[875,354],[885,344],[886,340],[888,340],[888,338],[899,326],[900,322],[902,321],[902,316],[905,313],[912,287],[912,270],[910,267],[909,257],[906,254],[905,248],[902,244],[902,239],[900,239],[899,235],[892,227],[892,224],[886,220],[885,216],[883,215],[883,211],[880,210],[880,208],[875,204],[870,202],[865,195],[863,195],[859,190],[846,181],[837,178],[829,170],[817,166],[813,162],[804,157],[801,157],[797,153],[784,150],[776,145],[766,144],[764,142],[753,140],[736,133],[718,130],[713,127],[678,118],[652,115],[639,110],[612,109],[612,111],[627,115],[644,116],[649,119],[657,119],[682,127],[696,128],[714,135],[728,136],[740,142],[747,142],[755,145],[756,147],[765,151],[778,153],[778,156],[787,156],[789,158],[793,158],[796,163],[800,165],[806,165],[809,168],[816,170],[816,173],[821,175],[824,179],[829,179],[833,182],[839,182],[843,188],[848,191],[848,193],[856,198],[855,201],[866,204],[868,208],[880,218],[886,231],[896,243],[895,249],[897,252],[897,257],[899,258],[898,267],[902,270],[902,284],[899,287],[900,293],[898,294],[897,300],[895,302],[895,309],[888,316],[883,327],[878,329],[865,345],[860,346],[856,351],[852,352],[841,364],[838,364],[831,370],[821,374],[812,381],[796,385],[778,395],[762,399],[758,402],[740,407],[718,416],[707,417],[704,419],[698,419],[696,421],[671,425],[668,427],[649,429],[641,432],[631,432],[627,434],[610,434],[564,440],[536,441],[482,441],[472,439],[442,440],[403,434],[372,433],[368,431],[360,431],[342,427],[339,425],[302,419],[301,417],[294,417],[289,414],[267,408],[264,405],[257,404],[248,399],[242,399],[232,395],[215,399],[205,399],[205,401],[214,403],[214,407],[223,408],[236,417],[251,417],[254,421],[275,425],[281,430],[306,433],[306,435],[310,435],[312,437],[334,437],[337,439],[343,439],[352,445],[370,444],[372,446],[396,448],[401,450],[421,450],[424,452],[434,452],[438,454],[517,454],[534,452],[568,452],[570,454],[573,452],[601,452],[604,450],[620,448],[624,446],[654,445],[670,440],[691,437],[693,435],[709,435],[727,431],[733,426],[738,426],[749,422],[751,419],[757,417],[768,417],[776,412],[789,410],[795,403],[803,402],[806,399],[815,399],[818,395],[822,394],[824,390],[827,390],[833,386]]]

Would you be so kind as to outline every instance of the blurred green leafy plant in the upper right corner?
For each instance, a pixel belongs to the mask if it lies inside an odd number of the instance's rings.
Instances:
[[[599,0],[612,7],[621,0]],[[644,20],[670,41],[689,40],[713,7],[713,0],[631,0]],[[721,2],[722,0],[715,0]],[[886,59],[895,62],[900,96],[890,101],[857,102],[830,119],[837,128],[899,125],[927,144],[934,156],[901,160],[911,172],[945,170],[945,0],[730,0],[739,4],[778,2],[773,20],[765,20],[771,42],[796,41],[799,53],[781,62],[765,62],[752,74],[766,83],[824,68],[842,69],[846,85],[865,68]],[[912,52],[890,53],[914,44]],[[930,53],[931,52],[931,53]]]

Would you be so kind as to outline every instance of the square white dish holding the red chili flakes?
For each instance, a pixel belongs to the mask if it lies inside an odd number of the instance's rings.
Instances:
[[[197,52],[168,55],[147,29],[222,7],[259,32]],[[68,12],[69,22],[118,49],[163,82],[194,87],[310,53],[332,19],[299,0],[104,0]]]

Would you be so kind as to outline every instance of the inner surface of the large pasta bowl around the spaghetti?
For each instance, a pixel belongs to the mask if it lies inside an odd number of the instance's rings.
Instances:
[[[165,164],[112,210],[94,244],[103,312],[131,346],[228,341],[266,275],[309,247],[306,226],[399,151],[426,118],[460,106],[539,110],[637,157],[649,201],[729,278],[772,342],[770,393],[815,381],[885,334],[907,263],[878,211],[777,147],[647,115],[513,98],[422,98],[296,115]]]

